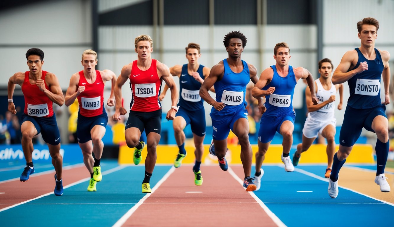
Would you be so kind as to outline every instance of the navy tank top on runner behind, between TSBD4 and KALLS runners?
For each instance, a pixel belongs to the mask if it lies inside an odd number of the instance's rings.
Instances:
[[[200,65],[197,73],[204,79],[204,65]],[[204,108],[204,99],[200,97],[201,84],[188,74],[188,64],[182,66],[182,73],[179,77],[179,102],[178,105],[185,110],[200,110]]]

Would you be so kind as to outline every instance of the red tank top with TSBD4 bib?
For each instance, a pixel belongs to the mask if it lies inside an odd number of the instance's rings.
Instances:
[[[159,79],[157,74],[156,62],[156,59],[152,59],[151,67],[142,71],[137,66],[137,60],[133,61],[130,74],[130,88],[132,91],[130,110],[151,112],[162,108],[158,98],[162,87],[162,79]]]

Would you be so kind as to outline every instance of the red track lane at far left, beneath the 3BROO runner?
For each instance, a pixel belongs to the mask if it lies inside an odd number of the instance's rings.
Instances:
[[[1,203],[3,203],[3,205],[0,204],[0,209],[53,192],[55,189],[54,175],[55,170],[53,170],[53,173],[44,175],[34,175],[33,173],[30,175],[30,179],[26,182],[20,182],[20,180],[17,179],[10,182],[0,183],[1,192],[5,192],[6,194],[4,195],[7,195],[2,197]],[[67,186],[67,184],[89,177],[89,173],[85,166],[63,169],[62,175],[62,178],[64,179],[63,187]]]

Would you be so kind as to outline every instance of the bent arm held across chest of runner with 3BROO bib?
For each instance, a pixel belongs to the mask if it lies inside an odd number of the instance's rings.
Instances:
[[[59,85],[58,78],[53,73],[46,73],[45,81],[46,85],[48,85],[51,91],[45,88],[44,80],[41,79],[37,80],[37,87],[39,87],[39,89],[44,92],[52,102],[58,104],[59,106],[63,106],[64,95]]]

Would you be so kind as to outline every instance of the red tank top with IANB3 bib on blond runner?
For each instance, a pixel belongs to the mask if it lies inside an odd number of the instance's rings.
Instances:
[[[85,91],[77,97],[80,114],[84,117],[95,117],[102,114],[104,82],[102,81],[100,71],[96,70],[96,81],[93,84],[87,82],[83,70],[79,71],[79,86],[85,86]]]

